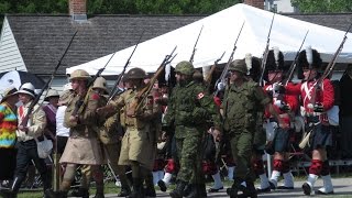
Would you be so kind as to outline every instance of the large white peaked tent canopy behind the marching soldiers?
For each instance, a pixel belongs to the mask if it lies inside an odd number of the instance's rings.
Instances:
[[[220,63],[226,63],[233,50],[243,22],[245,24],[237,43],[238,48],[234,53],[234,59],[243,58],[246,53],[262,57],[272,19],[272,12],[242,3],[235,4],[141,43],[131,58],[130,67],[142,67],[146,72],[155,72],[165,55],[169,54],[175,46],[177,46],[177,56],[172,62],[172,65],[176,65],[180,61],[188,61],[201,26],[204,26],[204,30],[194,58],[195,67],[212,65],[223,52],[226,52],[226,55]],[[286,61],[292,61],[308,30],[309,33],[304,47],[311,45],[312,48],[322,54],[324,62],[329,62],[344,36],[343,31],[276,14],[270,37],[270,46],[278,46],[284,52]],[[348,36],[352,38],[351,33]],[[120,74],[134,46],[131,46],[117,52],[102,75]],[[111,55],[67,68],[66,73],[70,74],[77,68],[84,68],[89,74],[96,74],[99,68],[108,63]],[[352,63],[352,40],[346,40],[338,63]]]

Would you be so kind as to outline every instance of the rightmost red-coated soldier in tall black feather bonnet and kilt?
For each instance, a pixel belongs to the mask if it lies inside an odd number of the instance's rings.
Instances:
[[[329,130],[329,120],[327,111],[333,107],[334,92],[329,79],[322,79],[322,85],[317,85],[321,77],[322,61],[320,54],[307,47],[298,56],[297,67],[304,73],[305,80],[297,86],[287,86],[287,94],[300,95],[302,100],[302,114],[310,133],[310,148],[312,150],[312,160],[309,167],[309,176],[302,185],[305,195],[310,195],[319,176],[323,179],[323,187],[316,194],[333,194],[333,186],[330,176],[330,166],[327,157],[327,147],[332,145],[332,134]]]

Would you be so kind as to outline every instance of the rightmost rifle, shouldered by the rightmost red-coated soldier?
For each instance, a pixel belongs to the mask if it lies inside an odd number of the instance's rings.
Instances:
[[[343,48],[343,44],[348,38],[348,33],[350,32],[351,28],[352,28],[352,23],[350,24],[349,29],[345,31],[344,36],[343,36],[343,38],[342,38],[337,52],[333,54],[330,63],[328,64],[327,68],[324,69],[324,72],[322,73],[321,77],[318,78],[317,82],[314,86],[315,92],[311,96],[311,100],[310,100],[312,106],[316,105],[317,91],[321,89],[322,81],[327,77],[329,77],[330,73],[333,70],[333,67],[334,67],[334,65],[337,63],[337,59],[338,59],[338,56],[340,55],[340,53],[341,53],[341,51]]]

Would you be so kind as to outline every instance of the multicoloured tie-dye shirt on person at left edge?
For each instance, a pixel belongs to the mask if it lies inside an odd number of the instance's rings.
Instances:
[[[18,117],[7,102],[0,105],[0,147],[14,147]]]

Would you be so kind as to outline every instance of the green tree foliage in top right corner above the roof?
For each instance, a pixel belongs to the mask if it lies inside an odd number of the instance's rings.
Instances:
[[[302,13],[351,12],[351,0],[290,0],[292,4]]]

